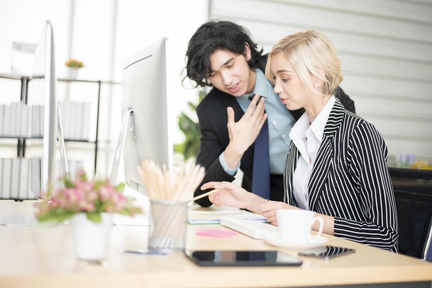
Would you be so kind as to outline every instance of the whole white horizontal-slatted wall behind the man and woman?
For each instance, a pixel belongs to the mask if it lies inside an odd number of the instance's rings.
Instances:
[[[211,0],[268,53],[287,34],[324,32],[342,60],[340,86],[373,123],[390,164],[407,151],[432,161],[432,0]]]

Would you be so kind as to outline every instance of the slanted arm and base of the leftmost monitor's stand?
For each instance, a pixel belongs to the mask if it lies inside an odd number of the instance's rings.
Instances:
[[[63,126],[61,125],[60,108],[57,105],[57,134],[58,141],[60,142],[60,155],[61,155],[61,166],[63,174],[68,173],[67,160],[66,160],[66,148],[64,146],[63,137]],[[4,216],[0,220],[0,224],[4,226],[34,226],[37,224],[37,220],[34,216]],[[67,222],[62,222],[59,225],[67,225]]]

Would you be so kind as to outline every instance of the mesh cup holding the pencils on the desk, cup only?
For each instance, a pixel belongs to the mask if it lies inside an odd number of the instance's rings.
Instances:
[[[150,200],[149,250],[172,252],[184,250],[188,202]]]

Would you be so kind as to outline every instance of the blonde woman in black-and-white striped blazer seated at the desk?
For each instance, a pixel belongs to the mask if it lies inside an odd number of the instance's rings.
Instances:
[[[269,53],[266,77],[289,110],[305,113],[292,127],[284,169],[285,201],[268,201],[229,182],[209,196],[216,206],[251,210],[277,225],[276,210],[312,210],[323,232],[397,252],[397,217],[386,165],[387,146],[375,126],[334,97],[341,61],[322,33],[298,32]],[[318,223],[312,227],[318,230]]]

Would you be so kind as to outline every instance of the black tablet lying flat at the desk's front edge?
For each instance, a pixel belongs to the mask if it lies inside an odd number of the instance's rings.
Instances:
[[[185,250],[199,266],[300,266],[302,261],[281,251]]]

